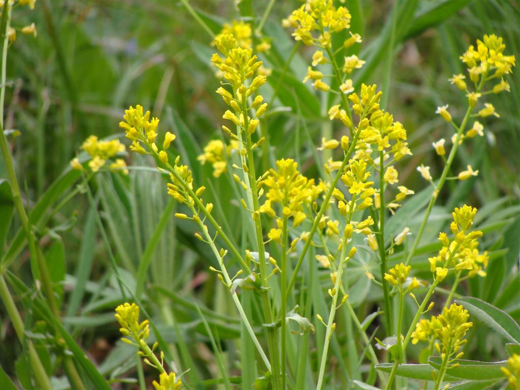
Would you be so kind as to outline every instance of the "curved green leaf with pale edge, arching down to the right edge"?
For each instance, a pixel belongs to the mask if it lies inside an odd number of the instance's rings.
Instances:
[[[471,296],[462,297],[456,302],[464,306],[472,316],[500,333],[505,339],[520,344],[520,327],[505,311]]]

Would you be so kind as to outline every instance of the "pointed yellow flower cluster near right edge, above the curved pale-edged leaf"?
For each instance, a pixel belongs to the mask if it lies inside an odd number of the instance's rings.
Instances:
[[[439,234],[439,241],[443,243],[437,256],[428,258],[430,270],[435,272],[436,277],[442,281],[448,274],[448,268],[456,271],[468,271],[468,277],[475,275],[486,276],[488,259],[487,252],[478,252],[478,238],[482,236],[482,231],[470,231],[473,218],[477,209],[464,205],[460,208],[455,207],[453,211],[453,222],[450,230],[454,238],[450,240],[446,233]],[[441,267],[438,267],[438,265]]]

